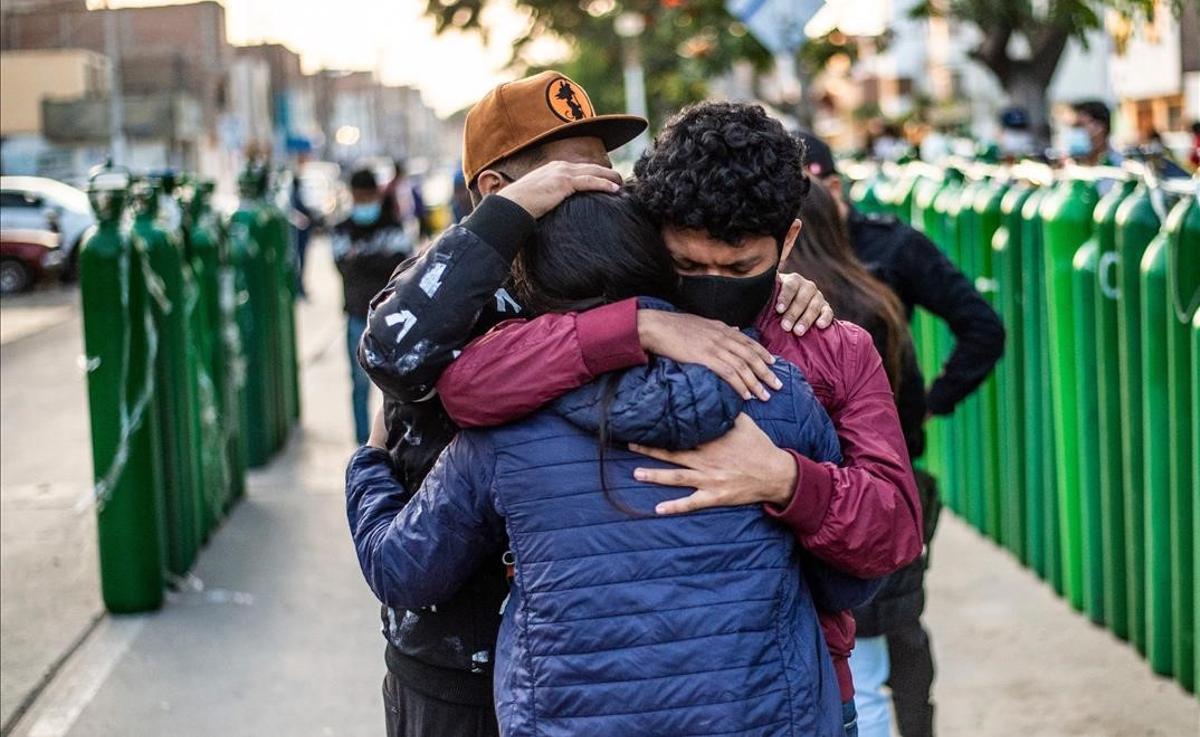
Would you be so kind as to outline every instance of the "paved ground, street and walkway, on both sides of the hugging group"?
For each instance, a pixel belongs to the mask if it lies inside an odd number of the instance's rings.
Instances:
[[[10,732],[34,737],[376,736],[377,606],[346,531],[344,334],[323,242],[300,308],[304,426],[251,475],[194,580],[145,617],[101,618],[85,393],[73,310],[2,360],[2,715],[83,637]],[[44,298],[43,298],[44,299]],[[72,301],[62,298],[61,304]],[[19,304],[19,306],[24,306]],[[7,316],[10,302],[4,302]],[[31,317],[34,316],[34,317]],[[10,335],[7,317],[5,335]],[[929,624],[941,733],[1178,737],[1200,706],[990,543],[943,517]]]

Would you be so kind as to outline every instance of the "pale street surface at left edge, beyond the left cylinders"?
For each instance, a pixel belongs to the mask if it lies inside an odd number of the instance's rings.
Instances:
[[[0,306],[0,724],[101,612],[77,305]]]

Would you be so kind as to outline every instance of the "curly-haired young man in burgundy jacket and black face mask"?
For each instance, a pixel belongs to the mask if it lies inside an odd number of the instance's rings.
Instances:
[[[638,480],[694,490],[659,514],[762,504],[798,543],[846,573],[874,579],[920,555],[922,514],[908,453],[871,336],[835,322],[797,335],[775,319],[776,274],[799,234],[809,187],[803,148],[758,106],[708,102],[672,118],[635,168],[634,194],[662,232],[680,275],[679,306],[737,328],[755,328],[774,355],[796,364],[838,431],[842,466],[775,448],[754,423],[696,450],[637,448],[678,468],[638,469]],[[511,340],[500,328],[443,373],[439,393],[462,426],[522,417],[569,388],[530,389],[512,366],[536,362],[547,344]],[[578,366],[578,383],[595,378]],[[820,612],[854,733],[854,643],[850,611]]]

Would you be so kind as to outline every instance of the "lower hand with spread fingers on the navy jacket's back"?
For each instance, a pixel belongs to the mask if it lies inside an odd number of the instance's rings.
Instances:
[[[660,515],[696,511],[709,507],[738,507],[770,502],[786,505],[796,490],[796,461],[780,450],[745,413],[733,430],[695,450],[661,450],[630,445],[630,450],[682,466],[682,468],[637,468],[638,481],[664,486],[692,487],[691,496],[662,502]]]

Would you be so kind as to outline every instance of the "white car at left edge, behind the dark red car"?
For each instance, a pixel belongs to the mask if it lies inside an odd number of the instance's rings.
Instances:
[[[83,234],[96,222],[83,191],[42,176],[0,176],[0,229],[58,230],[64,276],[73,278]]]

